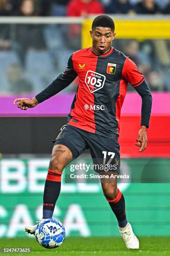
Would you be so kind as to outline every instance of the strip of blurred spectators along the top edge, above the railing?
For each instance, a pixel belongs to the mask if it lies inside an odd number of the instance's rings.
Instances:
[[[79,8],[77,8],[79,6]],[[25,13],[22,8],[32,9]],[[0,0],[0,15],[170,14],[170,0]]]

